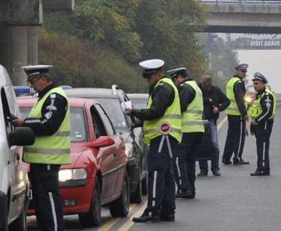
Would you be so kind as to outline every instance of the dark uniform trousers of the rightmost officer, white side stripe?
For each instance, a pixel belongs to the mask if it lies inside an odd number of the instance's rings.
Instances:
[[[273,120],[265,120],[253,126],[252,131],[256,136],[256,152],[258,154],[258,170],[265,173],[270,171],[269,167],[269,138],[273,127]]]

